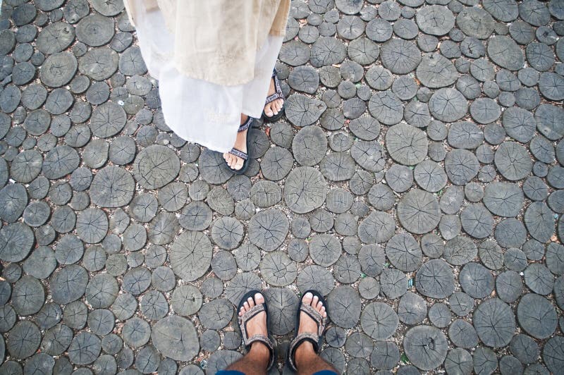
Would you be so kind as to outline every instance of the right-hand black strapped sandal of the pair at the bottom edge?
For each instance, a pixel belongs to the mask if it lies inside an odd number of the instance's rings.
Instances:
[[[305,292],[304,295],[306,293],[312,293],[313,297],[317,296],[317,298],[319,298],[321,303],[323,303],[327,316],[329,316],[329,308],[327,307],[327,302],[325,302],[325,299],[321,295],[321,293],[319,293],[317,290],[307,290],[307,292]],[[315,352],[319,353],[319,350],[321,350],[321,343],[323,343],[323,333],[325,331],[325,326],[327,324],[327,317],[324,318],[323,316],[321,316],[321,314],[310,305],[303,305],[302,299],[303,299],[303,295],[302,298],[300,299],[300,304],[298,305],[298,312],[296,313],[295,316],[294,338],[290,342],[290,346],[288,347],[288,366],[290,366],[290,369],[293,369],[296,372],[298,371],[298,369],[296,369],[295,367],[295,359],[294,359],[295,350],[298,349],[298,347],[304,341],[309,341],[310,343],[312,343]],[[305,312],[307,315],[309,315],[310,318],[312,318],[317,323],[317,333],[302,332],[298,334],[298,329],[300,328],[300,312]]]

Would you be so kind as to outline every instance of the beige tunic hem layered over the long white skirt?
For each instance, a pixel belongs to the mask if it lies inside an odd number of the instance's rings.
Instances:
[[[178,71],[225,86],[252,80],[257,50],[268,35],[284,35],[290,11],[290,0],[145,0],[145,8],[123,3],[133,25],[137,12],[158,6],[174,35]]]

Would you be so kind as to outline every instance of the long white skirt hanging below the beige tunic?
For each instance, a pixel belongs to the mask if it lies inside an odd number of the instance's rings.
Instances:
[[[241,113],[262,116],[266,94],[282,37],[269,35],[257,51],[255,78],[245,85],[222,86],[189,78],[176,70],[171,59],[173,35],[166,29],[161,11],[142,11],[135,27],[141,54],[153,78],[159,80],[164,121],[176,135],[218,152],[228,152],[235,144]]]

